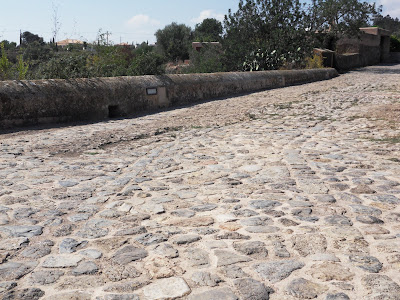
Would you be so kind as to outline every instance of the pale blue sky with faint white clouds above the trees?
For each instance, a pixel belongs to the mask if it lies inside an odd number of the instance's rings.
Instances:
[[[0,40],[19,40],[19,30],[52,37],[53,7],[61,27],[58,40],[74,38],[92,42],[100,29],[111,32],[114,43],[155,42],[154,33],[171,22],[194,28],[207,17],[223,19],[238,0],[0,0]],[[400,18],[400,0],[378,0],[384,14]]]

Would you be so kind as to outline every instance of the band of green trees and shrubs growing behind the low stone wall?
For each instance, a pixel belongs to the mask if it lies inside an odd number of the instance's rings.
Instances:
[[[359,27],[388,28],[392,51],[400,51],[400,21],[383,17],[362,0],[240,0],[223,23],[208,18],[192,28],[172,23],[155,33],[156,45],[111,45],[109,32],[97,41],[58,46],[26,31],[21,43],[3,41],[0,80],[262,71],[321,68],[314,47],[335,50],[339,36]],[[54,18],[54,36],[58,31]],[[192,49],[192,42],[201,47]],[[211,43],[218,42],[218,43]],[[190,59],[190,64],[184,61]]]

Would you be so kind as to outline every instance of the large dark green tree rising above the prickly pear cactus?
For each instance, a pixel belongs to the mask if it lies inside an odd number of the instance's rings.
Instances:
[[[240,0],[237,12],[229,10],[224,20],[225,66],[247,70],[256,60],[259,67],[253,70],[262,70],[297,61],[312,47],[308,26],[299,0]]]

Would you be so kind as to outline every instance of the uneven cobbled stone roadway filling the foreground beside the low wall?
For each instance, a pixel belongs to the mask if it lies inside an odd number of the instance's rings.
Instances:
[[[2,299],[400,299],[400,65],[0,136]]]

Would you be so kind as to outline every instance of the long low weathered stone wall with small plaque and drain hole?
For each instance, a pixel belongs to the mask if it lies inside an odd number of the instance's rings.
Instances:
[[[100,121],[337,76],[335,69],[0,82],[0,128]]]

